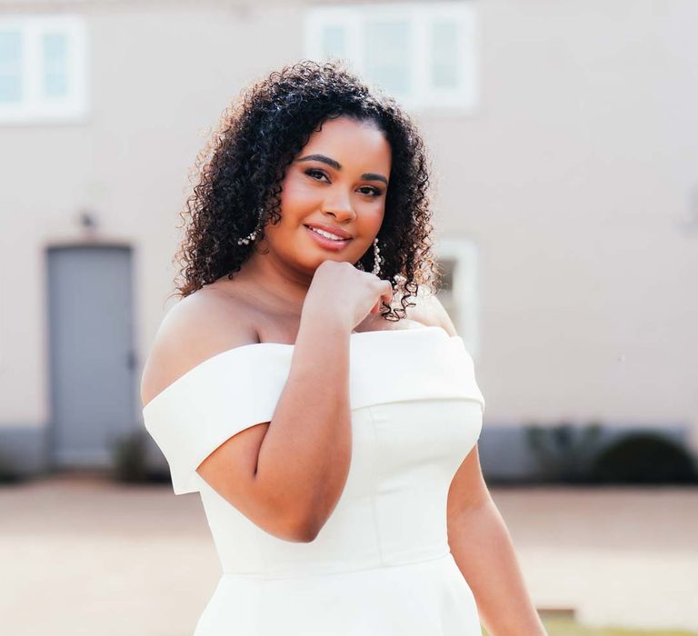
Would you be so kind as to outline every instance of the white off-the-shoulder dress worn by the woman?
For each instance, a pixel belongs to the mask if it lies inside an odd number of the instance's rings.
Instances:
[[[449,486],[484,412],[463,340],[431,326],[352,333],[351,467],[306,543],[264,532],[196,472],[236,432],[272,420],[293,351],[217,353],[143,410],[175,493],[200,493],[222,564],[194,636],[480,636],[446,530]]]

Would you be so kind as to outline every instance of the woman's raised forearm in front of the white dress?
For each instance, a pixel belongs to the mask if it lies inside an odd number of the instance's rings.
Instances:
[[[284,392],[259,450],[256,480],[309,533],[344,490],[351,462],[350,330],[301,321]]]

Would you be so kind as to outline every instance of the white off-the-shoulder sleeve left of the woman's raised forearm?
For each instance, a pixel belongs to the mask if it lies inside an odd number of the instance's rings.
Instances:
[[[257,343],[218,353],[145,405],[145,428],[165,455],[176,494],[200,489],[196,468],[223,442],[272,420],[292,351]]]

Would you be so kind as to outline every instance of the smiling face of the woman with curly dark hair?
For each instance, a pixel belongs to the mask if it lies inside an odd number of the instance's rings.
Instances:
[[[264,246],[304,272],[326,260],[358,261],[383,222],[391,159],[390,145],[374,124],[348,117],[325,121],[288,166],[281,221],[267,224]]]

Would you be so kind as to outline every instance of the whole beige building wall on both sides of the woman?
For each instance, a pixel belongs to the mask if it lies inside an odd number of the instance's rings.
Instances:
[[[92,53],[88,121],[0,126],[0,426],[48,419],[45,247],[79,238],[84,209],[104,240],[133,245],[142,363],[207,128],[244,84],[303,55],[292,3],[75,10]],[[698,423],[698,229],[680,225],[698,177],[698,6],[478,11],[478,113],[416,116],[439,233],[480,253],[488,421]]]

